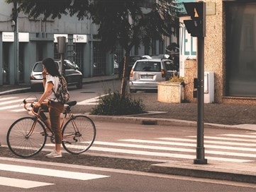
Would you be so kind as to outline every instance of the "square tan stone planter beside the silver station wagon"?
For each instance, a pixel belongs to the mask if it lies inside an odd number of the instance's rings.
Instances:
[[[157,84],[157,101],[168,103],[181,103],[184,100],[184,86],[182,83],[169,81]]]

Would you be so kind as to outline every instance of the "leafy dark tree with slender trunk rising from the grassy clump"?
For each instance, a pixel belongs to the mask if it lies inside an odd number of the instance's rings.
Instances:
[[[121,95],[126,95],[128,61],[133,46],[162,40],[177,28],[176,0],[7,0],[31,17],[61,18],[62,14],[89,18],[99,25],[97,37],[106,51],[117,44],[125,50]]]

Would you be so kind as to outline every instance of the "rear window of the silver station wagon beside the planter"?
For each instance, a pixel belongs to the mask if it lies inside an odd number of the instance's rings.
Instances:
[[[133,71],[161,71],[161,63],[156,61],[138,61]]]

